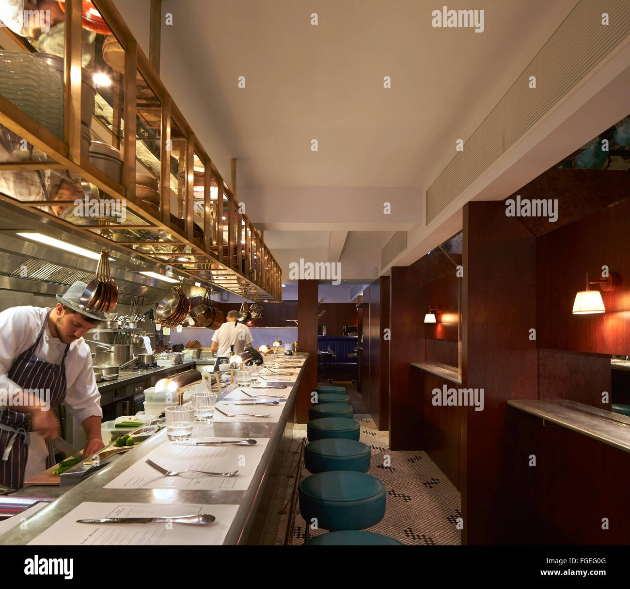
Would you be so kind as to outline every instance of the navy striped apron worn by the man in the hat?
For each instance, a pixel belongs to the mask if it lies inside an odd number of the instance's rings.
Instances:
[[[66,346],[60,364],[50,364],[35,356],[35,349],[43,330],[46,327],[48,313],[42,323],[35,343],[14,359],[8,376],[21,388],[37,388],[50,390],[50,409],[66,397],[66,354],[70,344]],[[30,441],[31,416],[21,411],[5,409],[0,411],[0,484],[20,489],[24,484],[24,469],[28,459],[28,443]],[[48,458],[46,467],[55,464],[52,441],[46,440]]]

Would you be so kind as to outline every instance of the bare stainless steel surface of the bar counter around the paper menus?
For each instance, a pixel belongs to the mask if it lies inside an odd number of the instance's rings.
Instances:
[[[308,354],[299,354],[299,356],[307,357]],[[169,368],[172,368],[172,366]],[[166,438],[166,430],[163,430],[130,452],[112,457],[109,465],[86,479],[86,481],[78,484],[71,491],[62,494],[59,499],[55,499],[50,505],[43,508],[32,518],[29,518],[28,529],[21,530],[18,526],[0,536],[0,544],[28,544],[30,540],[33,540],[43,530],[50,527],[50,525],[66,515],[78,504],[83,503],[83,501],[163,503],[165,499],[168,503],[238,504],[239,509],[236,513],[236,518],[234,518],[234,522],[229,532],[227,532],[224,544],[244,544],[253,524],[263,490],[270,478],[273,458],[282,442],[285,426],[294,420],[297,388],[303,373],[304,366],[302,366],[297,381],[285,402],[285,407],[278,423],[227,423],[220,421],[212,424],[212,433],[210,435],[219,438],[269,438],[265,453],[263,453],[263,457],[260,464],[258,464],[247,491],[186,491],[180,489],[159,489],[157,491],[153,489],[103,488],[130,465],[140,460],[151,452],[154,447],[162,443]],[[273,385],[273,381],[269,381],[269,383]],[[287,383],[277,382],[276,384],[284,385]],[[224,388],[217,399],[222,399],[235,387],[236,383]],[[42,489],[42,487],[38,487],[38,489]]]

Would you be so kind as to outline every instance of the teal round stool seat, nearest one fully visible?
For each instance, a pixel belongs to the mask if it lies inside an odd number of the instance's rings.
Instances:
[[[317,520],[324,530],[362,530],[385,515],[381,479],[353,470],[329,470],[302,479],[300,513],[307,525]]]

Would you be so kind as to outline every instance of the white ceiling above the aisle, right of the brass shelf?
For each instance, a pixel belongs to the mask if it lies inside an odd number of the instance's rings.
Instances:
[[[162,27],[161,78],[226,178],[237,159],[236,196],[285,283],[299,257],[340,261],[343,278],[370,281],[395,231],[423,230],[422,190],[455,139],[471,135],[576,3],[456,6],[484,9],[475,33],[433,28],[433,0],[163,0],[173,25]],[[117,4],[147,52],[150,0]],[[461,213],[445,225],[455,233]]]

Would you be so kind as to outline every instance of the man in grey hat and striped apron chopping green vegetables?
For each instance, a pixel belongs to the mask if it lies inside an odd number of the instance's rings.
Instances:
[[[53,308],[14,306],[0,313],[0,484],[23,482],[55,464],[52,440],[63,402],[81,423],[84,455],[103,448],[101,396],[83,335],[106,319],[79,306],[86,284],[57,294]]]

